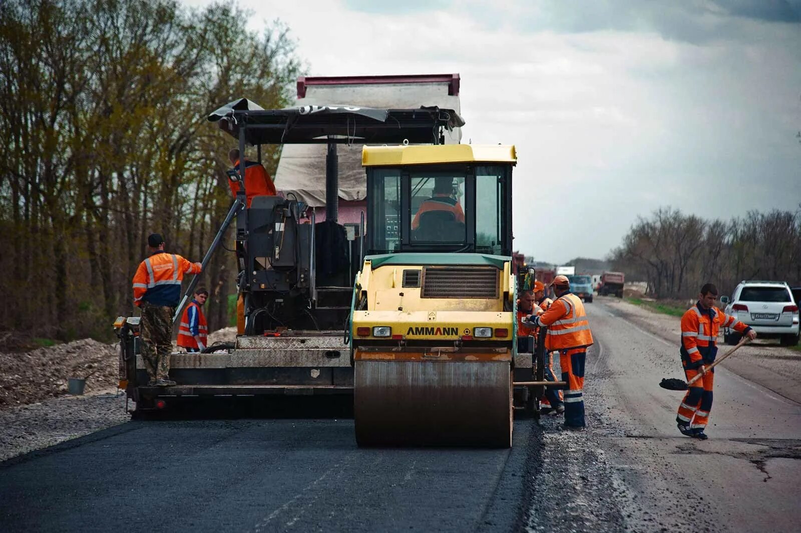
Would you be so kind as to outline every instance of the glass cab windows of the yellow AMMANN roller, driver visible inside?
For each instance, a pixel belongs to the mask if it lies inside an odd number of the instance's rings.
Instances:
[[[368,168],[367,253],[510,254],[509,166]]]

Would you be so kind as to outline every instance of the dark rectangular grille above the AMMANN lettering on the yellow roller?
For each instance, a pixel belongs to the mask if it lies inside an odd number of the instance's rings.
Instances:
[[[425,266],[421,298],[497,298],[492,266]]]

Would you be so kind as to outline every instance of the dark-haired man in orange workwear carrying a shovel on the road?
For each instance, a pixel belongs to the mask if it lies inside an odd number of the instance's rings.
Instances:
[[[708,439],[704,430],[712,409],[714,383],[714,368],[707,371],[706,366],[714,363],[718,354],[716,344],[720,327],[730,327],[748,339],[756,339],[756,331],[751,327],[714,307],[717,299],[718,288],[712,283],[706,283],[701,287],[698,303],[682,316],[682,347],[679,353],[682,355],[684,374],[689,381],[700,372],[703,377],[699,381],[703,386],[699,386],[697,381],[693,383],[694,387],[687,389],[678,406],[676,423],[682,435],[701,440]]]

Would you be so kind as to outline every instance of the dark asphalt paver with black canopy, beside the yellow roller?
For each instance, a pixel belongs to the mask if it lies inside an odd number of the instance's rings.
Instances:
[[[203,265],[235,222],[235,254],[239,266],[239,335],[232,346],[214,353],[171,355],[175,387],[148,387],[139,355],[139,318],[119,317],[120,382],[136,412],[147,415],[214,396],[351,395],[353,365],[344,330],[352,302],[352,283],[363,257],[359,238],[348,238],[336,220],[336,146],[364,143],[431,143],[445,130],[464,122],[453,110],[437,107],[372,109],[360,106],[300,106],[264,110],[245,98],[215,110],[208,117],[239,142],[316,143],[328,145],[327,217],[292,194],[256,196],[246,207],[239,172],[239,194],[211,243]],[[195,280],[186,291],[192,294]],[[183,303],[182,303],[183,305]],[[180,308],[175,318],[180,316]]]

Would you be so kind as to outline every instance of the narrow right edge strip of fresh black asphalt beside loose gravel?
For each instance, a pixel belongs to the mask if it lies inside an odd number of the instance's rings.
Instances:
[[[481,513],[475,531],[525,531],[533,498],[530,488],[536,478],[533,467],[538,464],[533,454],[540,449],[541,431],[533,421],[525,421],[525,425],[518,423],[517,426],[512,449],[506,456],[493,495]]]

